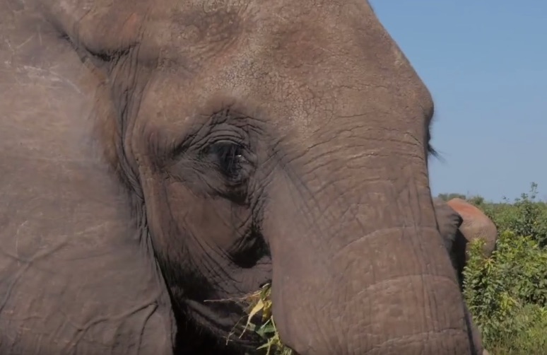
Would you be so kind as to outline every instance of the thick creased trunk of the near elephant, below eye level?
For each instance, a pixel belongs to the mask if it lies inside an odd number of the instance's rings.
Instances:
[[[290,198],[269,211],[281,339],[300,355],[474,354],[423,160],[368,156],[356,181],[332,159],[312,164],[326,181],[276,183]]]

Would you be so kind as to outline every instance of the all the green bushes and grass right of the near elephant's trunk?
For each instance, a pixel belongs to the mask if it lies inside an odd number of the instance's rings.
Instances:
[[[496,249],[471,243],[464,297],[492,355],[547,354],[547,204],[537,185],[510,204],[468,199],[498,227]]]

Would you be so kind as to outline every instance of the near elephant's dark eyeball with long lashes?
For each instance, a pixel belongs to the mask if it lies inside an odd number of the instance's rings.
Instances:
[[[245,148],[232,141],[218,141],[208,149],[211,161],[231,185],[239,185],[247,179]]]

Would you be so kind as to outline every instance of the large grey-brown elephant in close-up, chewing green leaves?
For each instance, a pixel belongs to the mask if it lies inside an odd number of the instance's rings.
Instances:
[[[0,354],[252,354],[267,283],[296,354],[480,354],[367,1],[1,0],[0,33]]]

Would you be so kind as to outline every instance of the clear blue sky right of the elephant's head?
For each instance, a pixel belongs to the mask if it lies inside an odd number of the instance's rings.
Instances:
[[[433,194],[547,199],[547,1],[372,0],[435,100]]]

